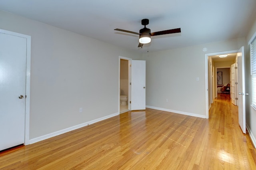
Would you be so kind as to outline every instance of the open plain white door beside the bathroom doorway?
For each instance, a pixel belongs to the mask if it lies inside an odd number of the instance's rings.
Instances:
[[[132,60],[131,110],[146,109],[146,61]]]

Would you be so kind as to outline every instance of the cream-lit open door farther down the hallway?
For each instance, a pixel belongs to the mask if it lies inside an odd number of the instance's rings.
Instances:
[[[236,63],[231,65],[230,98],[233,105],[236,105],[236,68]]]

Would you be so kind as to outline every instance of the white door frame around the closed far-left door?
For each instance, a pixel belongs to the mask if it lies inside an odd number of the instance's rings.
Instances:
[[[25,98],[25,136],[24,145],[29,144],[29,118],[30,118],[30,68],[31,68],[31,36],[0,29],[0,33],[26,38],[26,98]]]

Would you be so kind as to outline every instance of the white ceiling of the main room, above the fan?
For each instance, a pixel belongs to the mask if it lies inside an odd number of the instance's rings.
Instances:
[[[0,0],[0,10],[137,51],[160,51],[245,37],[256,16],[256,0]],[[138,48],[139,32],[149,19],[152,37]]]

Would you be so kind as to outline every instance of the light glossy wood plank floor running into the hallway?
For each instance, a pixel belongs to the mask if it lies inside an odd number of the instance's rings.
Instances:
[[[0,152],[0,169],[256,169],[238,108],[219,94],[210,119],[129,111],[28,146]]]

